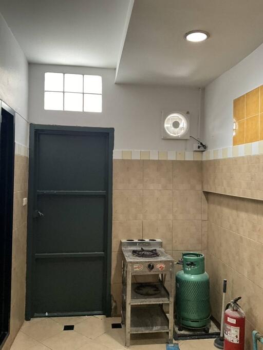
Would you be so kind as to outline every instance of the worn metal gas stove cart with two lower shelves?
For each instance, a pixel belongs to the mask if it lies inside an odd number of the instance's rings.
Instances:
[[[122,240],[122,323],[126,342],[138,333],[168,332],[170,344],[174,332],[174,259],[162,249],[160,239]],[[164,286],[170,275],[169,291]],[[136,283],[138,275],[155,275],[157,282]],[[158,277],[159,275],[159,277]],[[147,276],[148,277],[148,276]],[[168,316],[163,309],[167,304]]]

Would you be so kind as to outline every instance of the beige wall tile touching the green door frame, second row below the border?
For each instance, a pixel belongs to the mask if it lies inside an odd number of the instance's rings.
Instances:
[[[113,220],[142,220],[142,191],[113,191]]]

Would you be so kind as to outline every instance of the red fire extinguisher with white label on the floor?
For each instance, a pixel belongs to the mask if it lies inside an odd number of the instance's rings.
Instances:
[[[238,301],[232,300],[224,313],[224,350],[244,350],[246,316]]]

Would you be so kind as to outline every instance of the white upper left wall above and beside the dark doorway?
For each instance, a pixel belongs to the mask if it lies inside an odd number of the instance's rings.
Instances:
[[[0,99],[15,110],[15,141],[28,146],[28,63],[0,14]]]

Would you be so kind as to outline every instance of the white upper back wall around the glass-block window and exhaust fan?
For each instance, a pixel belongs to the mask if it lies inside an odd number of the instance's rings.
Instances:
[[[102,76],[103,112],[44,110],[44,73],[64,72]],[[114,69],[29,65],[29,120],[40,124],[114,127],[115,149],[190,150],[192,140],[163,140],[161,111],[189,110],[191,134],[198,136],[197,88],[115,84]]]

